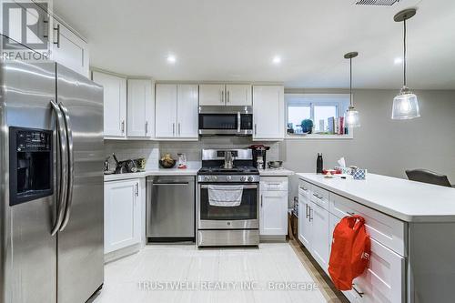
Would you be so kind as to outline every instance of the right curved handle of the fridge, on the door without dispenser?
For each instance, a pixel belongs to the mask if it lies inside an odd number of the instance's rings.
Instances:
[[[68,191],[66,195],[66,207],[65,207],[65,217],[63,218],[62,226],[60,227],[60,231],[63,231],[68,225],[69,217],[71,214],[71,204],[73,202],[73,184],[75,178],[75,157],[74,157],[74,146],[73,146],[73,131],[71,129],[71,123],[69,120],[69,113],[68,109],[63,105],[63,103],[59,103],[60,109],[62,110],[63,117],[65,120],[66,126],[66,140],[68,145]]]

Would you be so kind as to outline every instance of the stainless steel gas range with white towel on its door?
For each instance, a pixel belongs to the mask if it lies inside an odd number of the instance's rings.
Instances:
[[[202,150],[197,172],[198,247],[258,246],[259,179],[251,149]]]

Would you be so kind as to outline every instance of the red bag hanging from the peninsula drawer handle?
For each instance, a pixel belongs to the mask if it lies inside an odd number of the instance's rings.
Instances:
[[[343,217],[333,231],[329,275],[339,290],[352,289],[352,280],[369,265],[371,242],[360,216]]]

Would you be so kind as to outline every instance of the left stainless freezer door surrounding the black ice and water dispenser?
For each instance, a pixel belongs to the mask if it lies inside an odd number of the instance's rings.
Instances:
[[[52,63],[0,61],[1,303],[56,303],[56,237],[51,236],[56,194],[10,206],[8,174],[9,126],[55,128],[50,106],[56,96],[55,69]],[[53,183],[56,188],[56,179]]]

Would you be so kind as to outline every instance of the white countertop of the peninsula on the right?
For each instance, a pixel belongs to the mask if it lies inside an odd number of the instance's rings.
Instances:
[[[368,174],[366,180],[299,178],[406,222],[455,222],[455,188]]]

